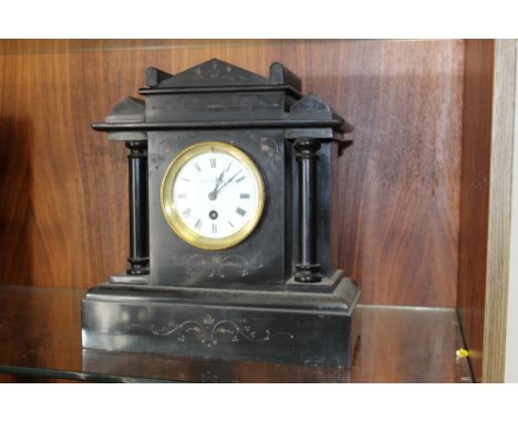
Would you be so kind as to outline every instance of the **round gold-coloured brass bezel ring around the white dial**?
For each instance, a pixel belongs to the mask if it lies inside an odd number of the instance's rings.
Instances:
[[[207,152],[209,150],[215,152],[228,154],[241,161],[250,170],[250,173],[256,180],[258,187],[258,207],[256,209],[255,214],[236,233],[221,239],[206,238],[188,228],[184,223],[182,218],[178,215],[178,211],[176,210],[175,201],[173,198],[173,187],[175,184],[179,170],[193,157],[196,157],[197,155]],[[191,244],[193,246],[199,249],[218,251],[235,246],[238,243],[242,242],[251,234],[253,229],[257,226],[262,215],[262,210],[265,208],[265,183],[256,163],[247,154],[245,154],[239,148],[235,147],[234,145],[220,141],[198,143],[182,150],[170,162],[169,167],[167,168],[164,175],[164,178],[162,179],[160,203],[162,212],[164,213],[167,224],[180,239]]]

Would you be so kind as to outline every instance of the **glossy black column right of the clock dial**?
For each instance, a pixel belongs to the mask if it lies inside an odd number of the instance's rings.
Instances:
[[[294,279],[299,283],[317,283],[322,279],[317,262],[317,160],[318,139],[294,141],[299,162],[299,263]]]

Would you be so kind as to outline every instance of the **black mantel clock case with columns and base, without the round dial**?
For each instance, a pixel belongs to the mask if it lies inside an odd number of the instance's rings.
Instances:
[[[332,193],[352,126],[280,63],[269,77],[217,59],[174,76],[149,67],[146,85],[145,102],[92,125],[130,151],[130,268],[83,299],[85,352],[350,366],[360,289],[333,267]],[[170,161],[207,140],[244,150],[265,179],[258,226],[222,251],[182,241],[160,208]]]

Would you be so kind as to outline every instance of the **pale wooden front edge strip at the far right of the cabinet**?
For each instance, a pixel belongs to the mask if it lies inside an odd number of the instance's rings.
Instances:
[[[504,382],[506,362],[516,40],[495,41],[483,381]],[[515,158],[516,159],[516,158]]]

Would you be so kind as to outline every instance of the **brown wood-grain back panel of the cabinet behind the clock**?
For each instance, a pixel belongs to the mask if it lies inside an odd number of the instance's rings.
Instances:
[[[355,126],[340,158],[339,263],[363,303],[454,307],[463,41],[0,42],[0,277],[87,287],[127,255],[126,151],[90,128],[211,57],[280,61]]]

